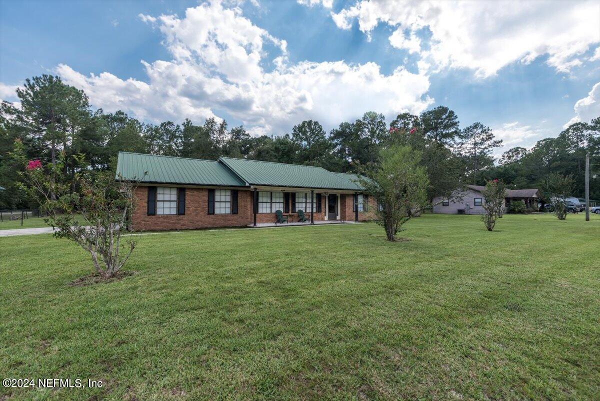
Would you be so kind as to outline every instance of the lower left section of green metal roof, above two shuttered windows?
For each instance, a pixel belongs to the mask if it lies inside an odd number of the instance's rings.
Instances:
[[[244,181],[217,161],[131,152],[119,152],[115,178],[119,179],[119,175],[135,181],[161,184],[245,186]]]

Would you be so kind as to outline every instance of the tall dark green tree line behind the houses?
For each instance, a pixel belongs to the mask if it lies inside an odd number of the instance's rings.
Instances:
[[[64,152],[65,175],[74,175],[75,155],[85,155],[87,168],[114,170],[119,151],[217,160],[221,155],[283,163],[321,166],[336,172],[357,172],[376,164],[380,149],[411,145],[421,154],[430,179],[428,197],[450,196],[463,184],[483,184],[502,178],[514,187],[535,187],[549,173],[572,173],[583,194],[584,154],[593,152],[592,197],[600,198],[598,160],[599,121],[577,123],[557,138],[527,150],[514,148],[494,166],[491,152],[502,145],[481,122],[461,129],[454,111],[445,106],[421,115],[401,113],[388,125],[385,117],[366,112],[355,121],[341,122],[327,133],[317,121],[295,125],[290,133],[252,137],[243,126],[206,119],[178,124],[148,124],[122,111],[93,110],[83,91],[65,85],[60,77],[42,75],[17,90],[20,104],[2,102],[0,111],[0,208],[27,207],[16,190],[23,158],[56,160]]]

